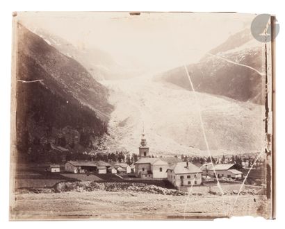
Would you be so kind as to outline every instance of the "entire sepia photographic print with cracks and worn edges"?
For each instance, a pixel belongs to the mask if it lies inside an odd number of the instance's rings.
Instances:
[[[274,25],[14,12],[10,220],[274,219]]]

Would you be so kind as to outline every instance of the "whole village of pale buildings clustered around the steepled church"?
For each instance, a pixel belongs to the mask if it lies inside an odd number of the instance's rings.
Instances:
[[[209,162],[209,158],[205,160],[202,158],[201,160],[201,158],[188,158],[184,155],[181,155],[181,158],[177,156],[154,158],[149,153],[149,146],[144,133],[142,133],[138,157],[136,158],[136,162],[131,164],[127,162],[105,162],[103,160],[68,160],[64,167],[60,164],[50,164],[45,171],[72,173],[74,174],[73,178],[76,178],[76,174],[85,174],[86,177],[106,174],[107,181],[108,174],[117,176],[121,180],[133,182],[163,180],[169,183],[170,187],[188,192],[193,186],[215,185],[217,179],[222,183],[241,183],[251,165],[250,160],[236,162],[234,156],[233,158],[225,156],[219,159],[213,158],[213,163]],[[249,180],[262,180],[261,169],[256,171],[257,169],[258,167],[255,167],[249,174]],[[92,176],[90,176],[90,180],[92,180]],[[262,183],[260,181],[259,185]]]

